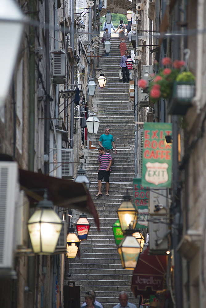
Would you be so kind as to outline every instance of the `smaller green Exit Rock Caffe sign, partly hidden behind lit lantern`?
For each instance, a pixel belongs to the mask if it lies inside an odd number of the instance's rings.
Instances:
[[[149,190],[143,188],[142,179],[133,179],[134,204],[138,211],[138,221],[135,229],[145,229],[148,227],[148,200]]]

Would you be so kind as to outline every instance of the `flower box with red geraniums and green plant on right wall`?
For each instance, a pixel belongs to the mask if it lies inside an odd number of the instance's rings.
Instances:
[[[168,99],[168,113],[183,115],[192,105],[191,100],[195,91],[195,77],[185,71],[184,61],[172,60],[169,57],[162,59],[164,68],[159,70],[151,81],[140,79],[139,87],[150,94],[150,101],[156,103],[160,98]],[[144,91],[145,91],[144,90]]]

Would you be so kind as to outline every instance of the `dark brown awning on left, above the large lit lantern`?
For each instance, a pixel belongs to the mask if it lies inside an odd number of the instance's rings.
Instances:
[[[42,200],[43,189],[47,188],[48,198],[54,205],[92,214],[99,230],[99,216],[85,184],[22,169],[19,169],[19,182],[31,204]]]

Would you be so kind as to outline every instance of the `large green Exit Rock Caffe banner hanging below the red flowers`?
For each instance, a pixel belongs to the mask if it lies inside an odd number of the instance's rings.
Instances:
[[[172,123],[145,123],[142,157],[142,186],[172,186],[172,144],[165,136],[172,136]]]

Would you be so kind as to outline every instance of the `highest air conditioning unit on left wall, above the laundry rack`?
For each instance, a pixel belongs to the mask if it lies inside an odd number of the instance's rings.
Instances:
[[[63,50],[53,50],[53,82],[66,83],[66,57]]]

